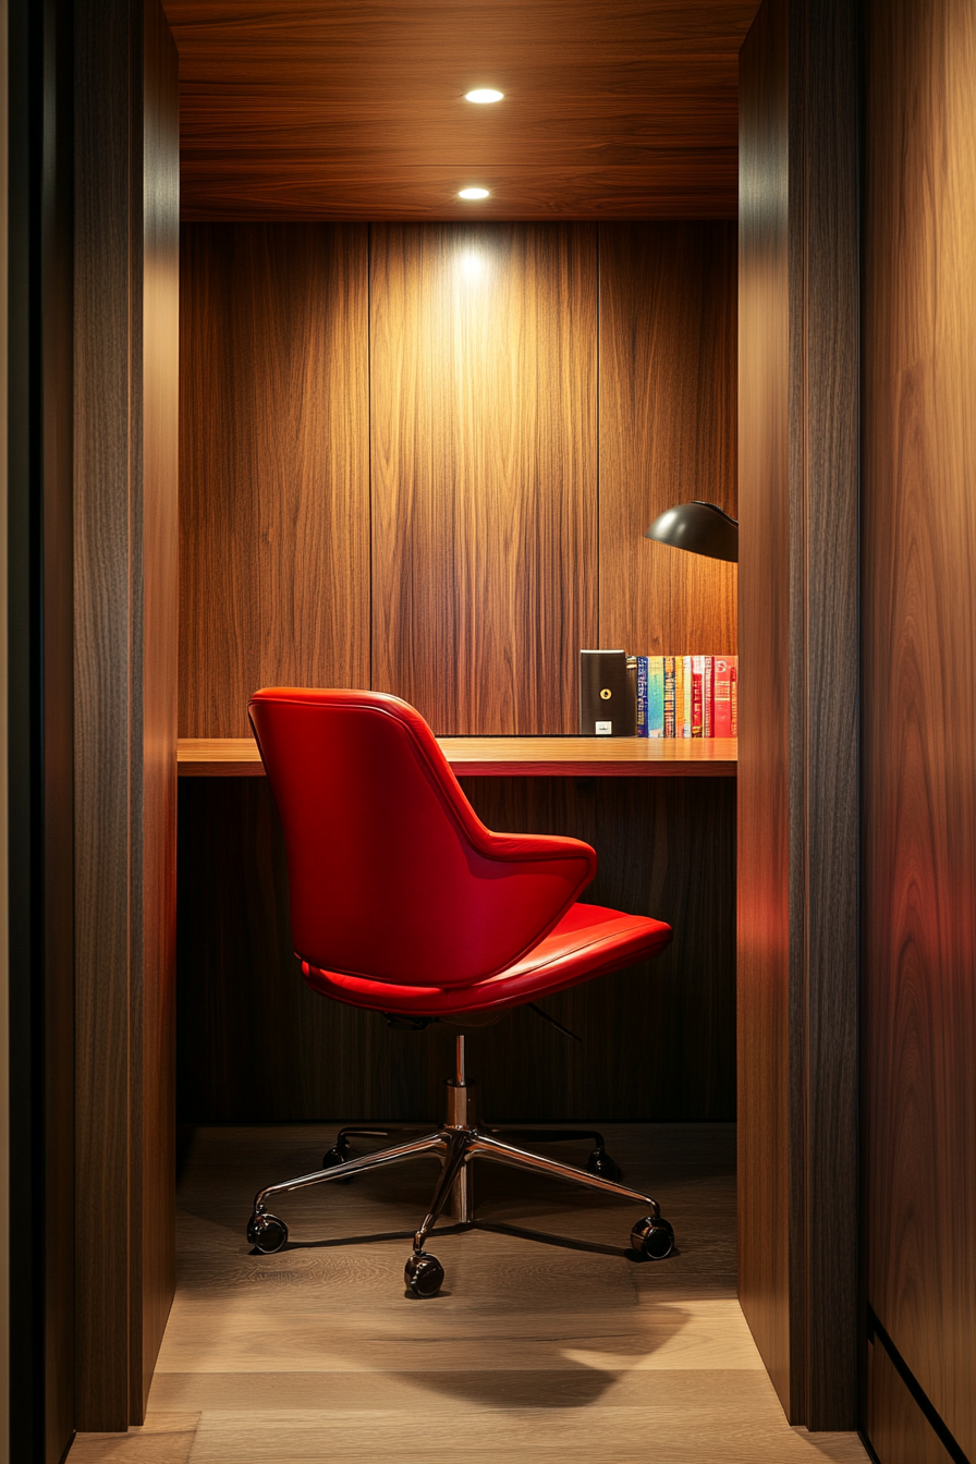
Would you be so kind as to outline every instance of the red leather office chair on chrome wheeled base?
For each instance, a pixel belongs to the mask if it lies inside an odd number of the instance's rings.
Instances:
[[[661,921],[578,903],[597,870],[590,845],[486,829],[430,728],[398,697],[277,688],[255,692],[249,710],[285,836],[294,949],[313,991],[417,1026],[483,1025],[505,1007],[632,966],[670,940]],[[597,1135],[596,1173],[587,1173],[476,1127],[464,1035],[448,1094],[436,1133],[348,1158],[348,1138],[370,1130],[344,1130],[322,1170],[260,1190],[249,1241],[262,1252],[285,1244],[284,1221],[266,1209],[272,1195],[435,1154],[440,1177],[405,1268],[414,1296],[435,1296],[443,1281],[424,1243],[452,1195],[457,1218],[474,1222],[474,1158],[637,1200],[650,1214],[634,1225],[632,1246],[654,1259],[670,1252],[675,1233],[657,1202],[606,1177],[613,1167]]]

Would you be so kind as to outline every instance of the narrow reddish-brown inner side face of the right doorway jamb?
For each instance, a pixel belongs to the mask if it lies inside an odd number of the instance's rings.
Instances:
[[[740,57],[739,1297],[790,1404],[789,16]]]

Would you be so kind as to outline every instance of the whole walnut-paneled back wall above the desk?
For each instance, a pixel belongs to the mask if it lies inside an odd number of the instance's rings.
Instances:
[[[181,735],[275,682],[571,732],[581,646],[735,651],[735,569],[644,539],[736,509],[733,225],[369,233],[367,290],[364,225],[183,228]]]

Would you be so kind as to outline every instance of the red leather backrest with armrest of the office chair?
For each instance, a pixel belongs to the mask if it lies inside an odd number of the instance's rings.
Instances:
[[[315,966],[470,985],[530,950],[596,873],[577,839],[490,833],[398,697],[284,687],[249,712],[284,827],[294,949]]]

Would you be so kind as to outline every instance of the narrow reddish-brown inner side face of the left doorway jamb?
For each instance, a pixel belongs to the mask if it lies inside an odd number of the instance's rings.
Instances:
[[[176,732],[179,688],[180,114],[177,54],[158,0],[145,0],[133,67],[142,105],[133,145],[142,189],[133,233],[142,299],[133,319],[132,575],[140,613],[133,675],[140,776],[133,793],[130,990],[130,1422],[142,1423],[174,1275]],[[140,73],[140,75],[139,75]],[[132,1301],[130,1301],[132,1307]]]

